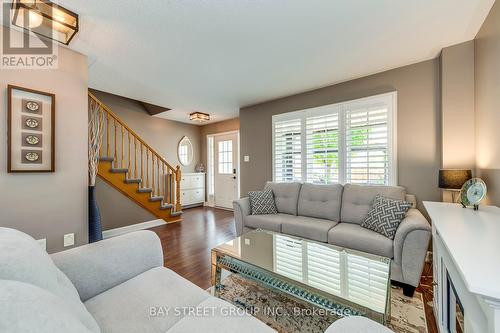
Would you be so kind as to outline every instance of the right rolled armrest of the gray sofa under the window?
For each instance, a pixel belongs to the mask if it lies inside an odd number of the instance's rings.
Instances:
[[[405,283],[418,286],[431,239],[431,226],[415,208],[408,210],[394,237],[394,261]]]

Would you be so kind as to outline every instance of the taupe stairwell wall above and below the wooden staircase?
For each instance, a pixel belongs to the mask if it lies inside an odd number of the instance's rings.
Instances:
[[[181,166],[181,170],[194,172],[195,165],[200,162],[202,149],[200,126],[152,117],[135,100],[101,91],[91,91],[173,167],[180,165],[177,144],[183,136],[189,137],[193,144],[194,157],[192,163],[187,167]],[[103,230],[156,219],[154,215],[100,179],[96,184],[96,196]]]

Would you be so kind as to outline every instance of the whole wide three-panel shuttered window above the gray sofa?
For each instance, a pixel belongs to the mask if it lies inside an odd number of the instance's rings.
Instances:
[[[396,185],[396,97],[273,116],[274,180]]]

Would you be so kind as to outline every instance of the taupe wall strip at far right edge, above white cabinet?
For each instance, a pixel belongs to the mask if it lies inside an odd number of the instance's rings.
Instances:
[[[500,2],[475,39],[476,173],[500,206]]]

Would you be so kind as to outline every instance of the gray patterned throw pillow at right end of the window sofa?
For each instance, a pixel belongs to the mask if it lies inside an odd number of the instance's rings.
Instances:
[[[403,221],[411,203],[403,200],[386,198],[380,194],[375,196],[372,208],[361,223],[361,226],[387,238],[394,239],[399,224]]]

